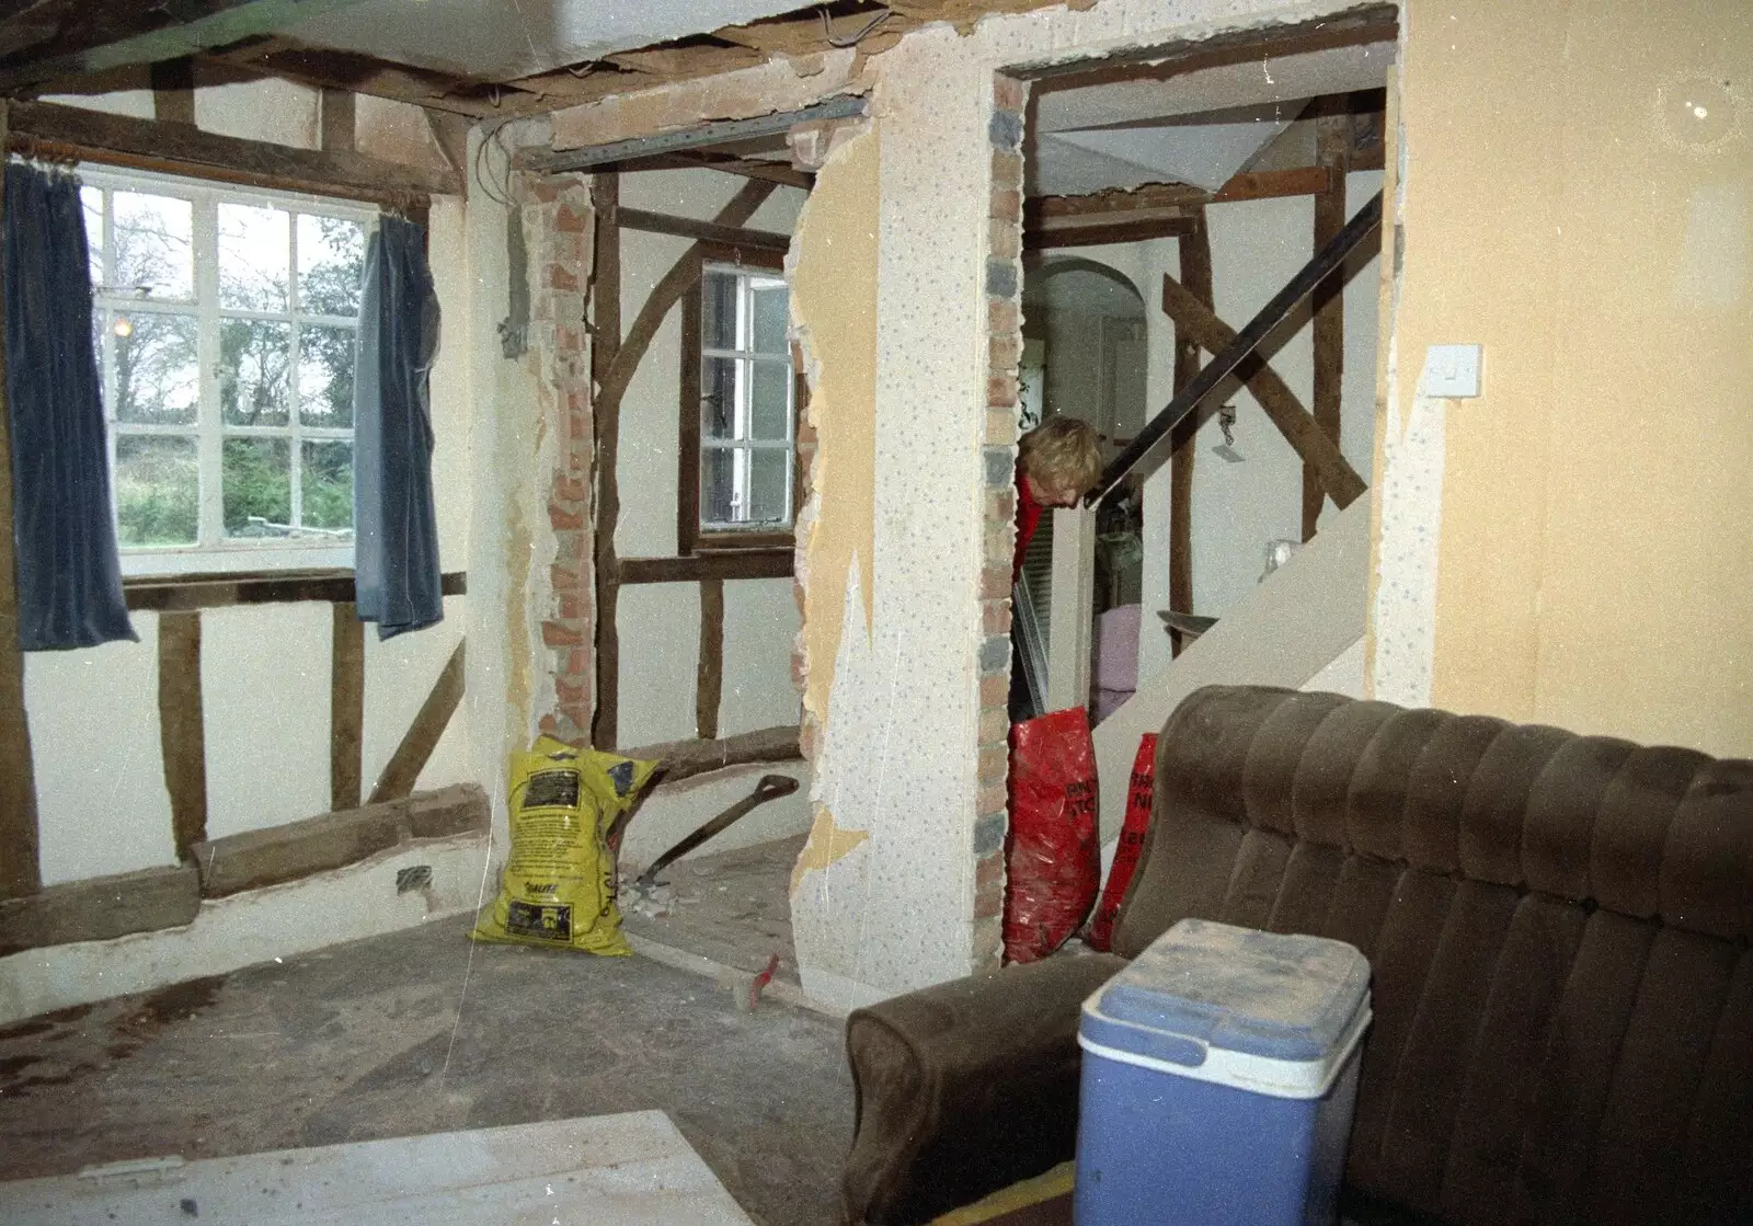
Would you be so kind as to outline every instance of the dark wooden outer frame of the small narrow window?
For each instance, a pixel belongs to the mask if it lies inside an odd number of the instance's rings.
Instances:
[[[803,493],[803,463],[798,451],[798,430],[805,410],[805,381],[798,372],[796,349],[787,346],[785,361],[791,367],[791,421],[785,447],[791,451],[787,523],[784,528],[727,528],[706,526],[701,521],[699,479],[701,461],[708,444],[701,433],[703,375],[708,351],[703,337],[703,291],[708,268],[784,277],[785,258],[777,251],[749,249],[720,244],[701,244],[699,277],[682,296],[682,379],[680,379],[680,431],[677,447],[677,552],[682,556],[715,549],[791,549],[796,540],[799,495]],[[789,289],[789,286],[787,286]],[[717,356],[735,356],[713,351]],[[747,444],[745,444],[747,445]],[[773,447],[768,447],[773,449]]]

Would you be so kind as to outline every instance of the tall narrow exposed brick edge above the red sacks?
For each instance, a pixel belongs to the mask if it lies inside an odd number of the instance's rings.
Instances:
[[[985,537],[980,572],[980,796],[975,856],[975,968],[1004,951],[1004,830],[1010,772],[1010,561],[1017,538],[1017,363],[1022,356],[1022,116],[1026,86],[992,79],[992,207],[987,253]]]

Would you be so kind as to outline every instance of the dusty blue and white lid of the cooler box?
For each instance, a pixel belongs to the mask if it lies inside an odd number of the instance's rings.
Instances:
[[[1078,1040],[1302,1098],[1325,1093],[1367,1023],[1369,961],[1352,945],[1183,919],[1083,1001]]]

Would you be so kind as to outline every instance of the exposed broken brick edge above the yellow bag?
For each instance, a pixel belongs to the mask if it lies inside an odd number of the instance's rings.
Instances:
[[[557,461],[547,516],[554,563],[547,591],[536,582],[542,642],[549,649],[554,709],[542,730],[586,742],[594,688],[594,598],[591,570],[591,349],[584,300],[591,275],[591,189],[586,179],[519,177],[524,242],[529,253],[529,349],[542,419],[557,431]],[[538,475],[540,479],[540,475]]]

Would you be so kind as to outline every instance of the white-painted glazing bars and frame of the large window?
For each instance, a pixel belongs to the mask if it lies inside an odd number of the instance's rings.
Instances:
[[[323,544],[310,538],[228,538],[224,537],[223,453],[226,438],[284,438],[289,463],[291,505],[300,509],[303,488],[300,472],[307,442],[354,440],[354,426],[312,426],[300,421],[298,405],[298,353],[300,331],[305,326],[358,328],[358,316],[307,314],[298,300],[298,223],[303,216],[326,216],[354,221],[365,230],[365,242],[382,216],[379,205],[349,196],[328,196],[307,191],[249,188],[198,175],[160,174],[84,161],[79,165],[82,188],[105,193],[135,191],[189,202],[191,212],[191,275],[189,298],[130,298],[107,284],[114,275],[110,228],[114,207],[103,209],[105,233],[93,246],[103,249],[103,284],[91,286],[93,326],[103,344],[98,347],[98,381],[103,389],[103,430],[110,474],[110,514],[117,514],[116,449],[119,438],[175,437],[193,438],[198,472],[196,540],[186,545],[131,545],[117,542],[121,574],[124,579],[175,577],[207,574],[259,574],[279,570],[345,570],[354,567],[354,538]],[[219,298],[219,205],[237,203],[256,209],[277,209],[289,214],[287,221],[287,295],[280,310],[254,310],[224,307]],[[119,423],[114,405],[114,346],[109,344],[107,312],[124,309],[128,314],[184,316],[196,321],[196,412],[189,424]],[[223,414],[219,333],[226,319],[263,319],[284,323],[289,346],[287,421],[284,426],[226,424]],[[117,523],[119,530],[119,523]]]

